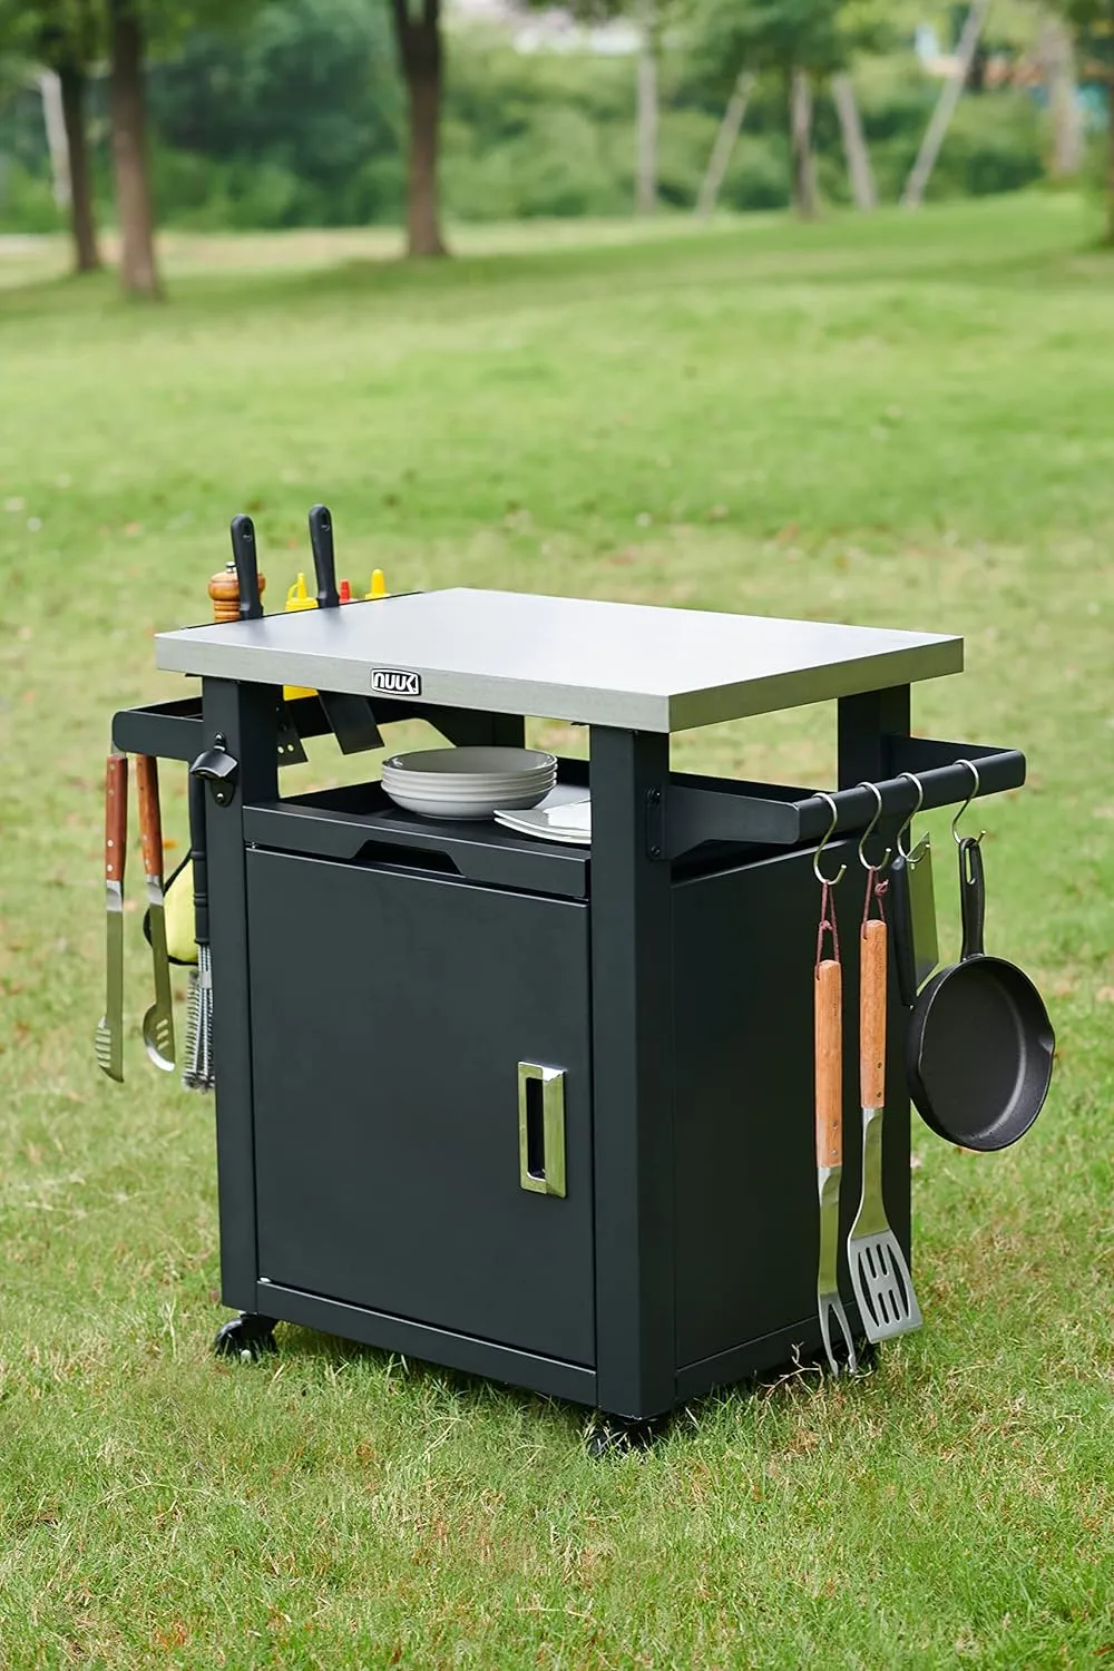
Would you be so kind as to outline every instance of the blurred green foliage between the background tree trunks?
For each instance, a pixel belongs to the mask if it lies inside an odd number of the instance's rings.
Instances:
[[[660,201],[691,209],[727,75],[685,37],[661,63]],[[735,65],[738,69],[738,63]],[[939,84],[912,52],[858,58],[855,82],[884,202],[915,157]],[[164,226],[397,224],[404,119],[382,0],[271,0],[234,30],[189,32],[149,70],[155,201]],[[498,32],[448,32],[443,185],[449,217],[626,216],[633,201],[630,58],[518,53]],[[99,197],[107,197],[104,89],[94,89]],[[830,100],[813,140],[822,197],[847,201]],[[58,224],[37,94],[0,109],[0,229]],[[930,196],[995,192],[1041,177],[1036,102],[1024,92],[964,99]],[[785,89],[765,72],[723,182],[725,209],[788,202]]]

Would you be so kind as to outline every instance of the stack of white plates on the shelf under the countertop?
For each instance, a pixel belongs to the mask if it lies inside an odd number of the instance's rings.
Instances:
[[[418,749],[382,762],[382,787],[426,819],[489,819],[496,807],[536,807],[556,784],[538,749]]]

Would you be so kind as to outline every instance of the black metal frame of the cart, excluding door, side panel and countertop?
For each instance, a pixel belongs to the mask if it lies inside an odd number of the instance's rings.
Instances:
[[[914,810],[917,792],[900,772],[917,772],[925,809],[960,802],[975,787],[959,762],[974,760],[979,792],[1024,782],[1015,750],[929,742],[909,735],[909,687],[848,697],[838,703],[838,789],[835,830],[865,829],[877,799],[855,787],[873,782],[884,824]],[[451,1367],[516,1382],[556,1397],[595,1404],[645,1420],[711,1385],[752,1374],[788,1355],[798,1327],[755,1340],[705,1362],[680,1365],[675,1340],[673,1233],[673,1021],[671,886],[675,861],[710,842],[742,847],[798,847],[818,841],[832,822],[827,800],[800,789],[718,784],[670,774],[670,739],[593,725],[590,762],[568,762],[586,775],[593,797],[591,849],[560,849],[509,837],[483,842],[461,827],[406,827],[382,805],[352,807],[344,792],[281,799],[284,727],[321,735],[336,719],[331,702],[282,702],[276,687],[204,680],[200,698],[124,710],[112,724],[114,745],[192,762],[214,747],[239,772],[219,802],[207,797],[207,842],[214,951],[217,1168],[220,1273],[225,1305],[331,1330],[387,1350],[413,1352]],[[366,725],[428,719],[451,742],[521,745],[521,717],[431,709],[376,698]],[[366,730],[364,735],[369,735]],[[351,734],[349,734],[351,742]],[[326,797],[327,799],[327,797]],[[489,886],[588,897],[591,911],[593,1176],[595,1176],[595,1370],[511,1350],[451,1330],[389,1317],[321,1295],[261,1280],[256,1243],[256,1158],[252,1103],[252,1016],[246,854],[252,846],[356,857],[364,846],[421,862],[448,856],[461,876]],[[723,862],[730,862],[730,847]],[[496,851],[498,849],[498,851]],[[496,857],[493,859],[493,852]],[[396,859],[397,862],[397,859]],[[900,1026],[895,1016],[894,1026]],[[848,1126],[852,1123],[848,1121]],[[887,1105],[887,1200],[894,1227],[909,1245],[909,1106]],[[850,1136],[847,1163],[853,1166]]]

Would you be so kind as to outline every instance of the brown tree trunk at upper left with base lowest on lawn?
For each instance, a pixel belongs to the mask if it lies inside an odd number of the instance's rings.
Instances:
[[[109,109],[120,224],[120,282],[129,296],[160,296],[147,179],[144,33],[137,0],[109,0]]]

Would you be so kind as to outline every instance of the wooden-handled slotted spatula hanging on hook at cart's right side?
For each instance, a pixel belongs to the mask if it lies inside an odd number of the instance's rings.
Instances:
[[[887,931],[879,882],[890,849],[879,864],[868,864],[865,844],[882,817],[882,795],[873,784],[877,810],[858,842],[867,871],[867,897],[858,931],[858,1081],[862,1100],[862,1193],[855,1223],[847,1238],[847,1265],[858,1302],[858,1317],[868,1340],[889,1340],[920,1327],[920,1307],[902,1245],[885,1215],[882,1188],[882,1135],[885,1126],[885,986]],[[872,917],[877,902],[879,916]]]

